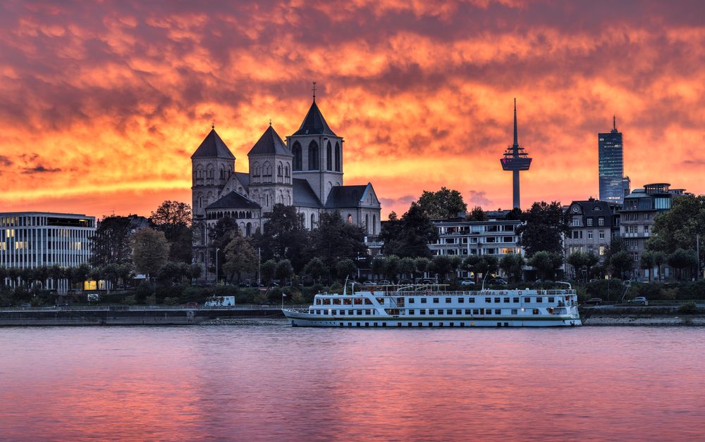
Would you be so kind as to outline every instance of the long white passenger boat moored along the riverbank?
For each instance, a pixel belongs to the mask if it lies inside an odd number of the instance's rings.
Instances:
[[[575,290],[447,291],[440,284],[365,286],[319,293],[283,309],[294,327],[570,327],[582,325]]]

